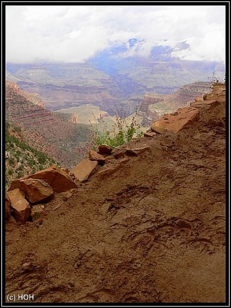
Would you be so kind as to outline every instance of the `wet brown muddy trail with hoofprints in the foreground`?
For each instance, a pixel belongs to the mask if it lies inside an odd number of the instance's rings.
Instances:
[[[6,301],[224,303],[225,103],[198,110],[126,144],[148,150],[55,194],[42,219],[7,223]]]

